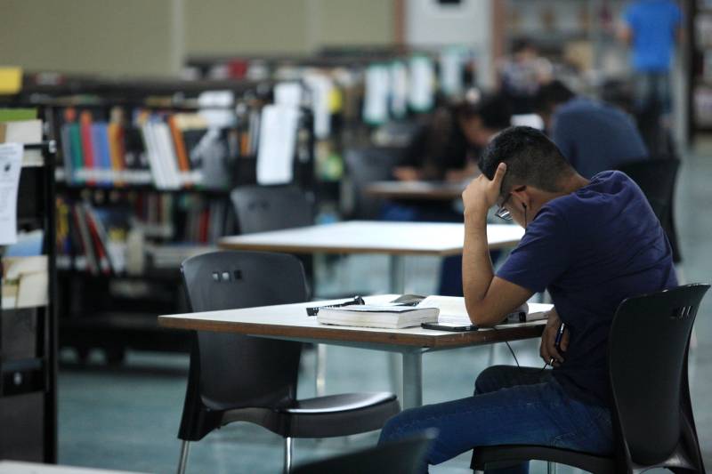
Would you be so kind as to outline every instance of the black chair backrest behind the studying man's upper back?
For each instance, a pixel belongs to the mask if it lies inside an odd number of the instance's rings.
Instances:
[[[682,260],[674,219],[674,198],[677,170],[680,160],[672,157],[653,157],[635,161],[619,167],[635,181],[648,198],[652,211],[658,216],[660,225],[673,250],[673,261]]]

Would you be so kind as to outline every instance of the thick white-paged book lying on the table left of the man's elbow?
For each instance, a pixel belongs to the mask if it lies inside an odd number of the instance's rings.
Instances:
[[[342,308],[321,308],[317,321],[323,325],[352,325],[360,327],[382,327],[401,329],[434,323],[440,309],[414,306],[353,305]]]

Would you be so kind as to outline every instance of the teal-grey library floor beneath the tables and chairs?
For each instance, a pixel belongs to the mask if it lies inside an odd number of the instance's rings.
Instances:
[[[712,155],[712,154],[708,154]],[[712,281],[712,158],[688,157],[679,180],[677,226],[682,240],[684,279]],[[437,261],[409,261],[410,292],[432,293]],[[359,258],[337,267],[327,281],[338,287],[378,291],[387,285],[384,258]],[[363,278],[368,276],[368,278]],[[364,287],[366,285],[367,287]],[[691,354],[692,398],[706,464],[712,467],[712,295],[700,310],[695,328],[697,346]],[[501,346],[501,347],[500,347]],[[512,344],[522,363],[538,365],[538,342]],[[435,352],[424,358],[425,403],[471,394],[475,376],[487,365],[489,349]],[[353,361],[358,360],[358,364]],[[495,349],[498,363],[511,363],[506,346]],[[146,472],[173,472],[179,443],[180,421],[188,358],[185,356],[130,353],[127,364],[107,369],[100,363],[86,367],[63,366],[60,373],[60,462],[78,466]],[[313,394],[314,354],[303,356],[299,392]],[[328,348],[328,391],[384,390],[388,387],[387,358],[368,350]],[[644,396],[644,394],[642,394]],[[327,440],[297,440],[295,462],[372,446],[376,434]],[[278,473],[281,441],[255,426],[239,425],[214,432],[191,447],[189,472]],[[469,455],[463,454],[433,468],[436,473],[471,472]],[[532,464],[532,472],[544,472]],[[560,468],[560,472],[573,472]]]

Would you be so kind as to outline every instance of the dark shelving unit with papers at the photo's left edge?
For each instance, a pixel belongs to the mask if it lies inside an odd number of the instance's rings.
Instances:
[[[43,231],[47,303],[0,307],[0,459],[57,462],[57,312],[53,141],[26,144],[41,163],[23,164],[18,229]],[[34,160],[33,160],[34,161]]]

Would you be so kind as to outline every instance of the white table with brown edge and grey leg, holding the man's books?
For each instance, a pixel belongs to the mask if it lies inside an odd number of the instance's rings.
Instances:
[[[392,301],[397,296],[395,294],[369,296],[366,302],[378,304]],[[425,352],[537,338],[546,325],[546,321],[539,320],[516,325],[501,325],[497,329],[452,333],[421,327],[380,329],[320,325],[316,317],[309,317],[306,314],[307,307],[335,302],[338,300],[166,315],[158,317],[158,324],[194,331],[237,333],[285,341],[333,344],[401,353],[403,408],[423,404],[423,354]],[[550,305],[546,306],[546,308],[550,307]],[[541,309],[544,307],[538,308]]]

